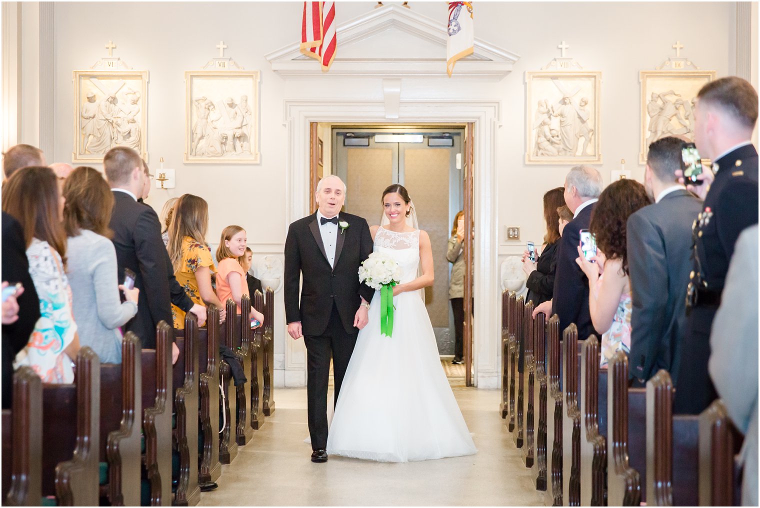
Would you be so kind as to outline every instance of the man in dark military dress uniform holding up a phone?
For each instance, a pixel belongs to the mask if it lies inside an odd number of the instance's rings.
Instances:
[[[758,152],[750,141],[758,119],[757,91],[736,76],[711,81],[697,94],[694,119],[694,141],[699,154],[714,161],[714,173],[705,170],[698,177],[702,185],[687,187],[705,199],[693,225],[693,276],[673,402],[674,411],[687,414],[701,413],[717,398],[708,375],[712,322],[736,239],[758,224]]]

